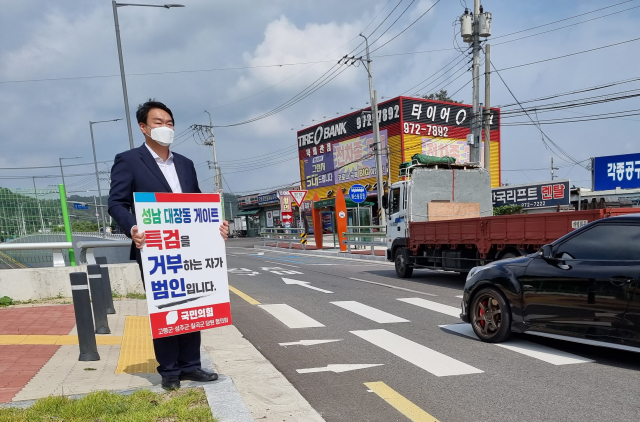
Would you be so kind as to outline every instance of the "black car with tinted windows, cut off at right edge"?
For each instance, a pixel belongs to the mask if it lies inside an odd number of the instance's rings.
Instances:
[[[486,342],[528,331],[640,352],[639,283],[640,215],[605,218],[535,254],[473,268],[460,317]]]

